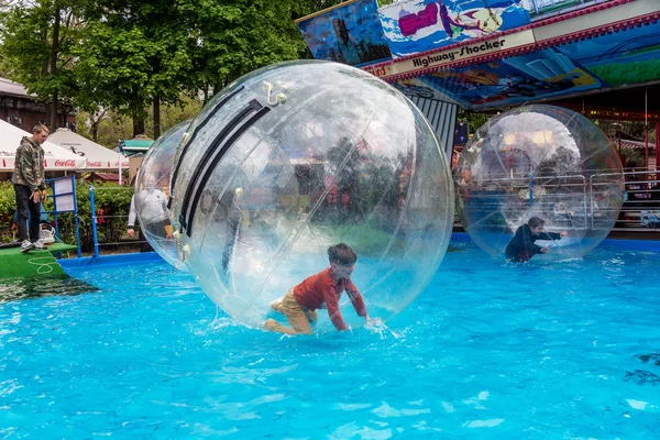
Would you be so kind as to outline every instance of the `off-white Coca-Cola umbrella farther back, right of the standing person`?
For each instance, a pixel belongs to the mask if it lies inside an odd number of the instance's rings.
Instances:
[[[87,165],[81,168],[87,172],[114,170],[120,166],[122,169],[129,168],[129,160],[123,155],[112,150],[106,148],[87,138],[70,131],[69,129],[57,129],[55,133],[51,133],[48,141],[63,148],[69,150],[72,153],[85,157]],[[121,164],[120,164],[121,161]]]

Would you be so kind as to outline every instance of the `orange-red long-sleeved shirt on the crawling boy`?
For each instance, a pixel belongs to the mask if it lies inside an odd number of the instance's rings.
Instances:
[[[336,284],[332,278],[332,267],[310,276],[294,287],[294,298],[300,306],[310,310],[323,308],[324,305],[328,307],[328,316],[337,330],[345,330],[346,324],[339,312],[339,298],[344,290],[349,294],[358,316],[365,317],[366,307],[364,307],[362,295],[350,279],[340,278]]]

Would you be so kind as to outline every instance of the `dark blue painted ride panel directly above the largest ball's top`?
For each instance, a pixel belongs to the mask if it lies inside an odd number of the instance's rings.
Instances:
[[[345,2],[296,23],[316,59],[356,66],[391,58],[375,0]]]

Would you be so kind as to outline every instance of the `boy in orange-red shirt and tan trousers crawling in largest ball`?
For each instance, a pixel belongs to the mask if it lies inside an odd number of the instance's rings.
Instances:
[[[284,314],[293,326],[282,326],[274,319],[267,319],[264,328],[285,334],[311,334],[311,324],[318,318],[317,309],[328,308],[328,316],[337,330],[346,330],[339,311],[339,298],[346,292],[358,316],[369,320],[362,296],[351,282],[358,255],[353,250],[340,243],[328,249],[330,267],[306,278],[292,288],[283,298],[271,302],[271,308]]]

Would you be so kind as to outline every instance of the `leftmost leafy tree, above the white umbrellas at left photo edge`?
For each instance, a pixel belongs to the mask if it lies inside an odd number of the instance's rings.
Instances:
[[[11,66],[11,79],[50,103],[51,130],[61,125],[58,105],[70,103],[76,96],[72,73],[72,47],[80,30],[76,4],[74,0],[22,0],[0,8],[0,66]]]

